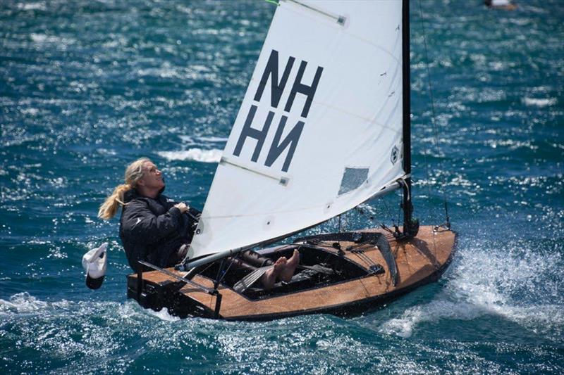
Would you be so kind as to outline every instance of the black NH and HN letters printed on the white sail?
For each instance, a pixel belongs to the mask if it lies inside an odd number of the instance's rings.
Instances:
[[[266,119],[264,120],[262,129],[258,130],[255,127],[251,126],[253,121],[255,120],[255,114],[257,113],[257,104],[260,102],[262,94],[264,93],[264,88],[266,87],[266,83],[270,78],[270,106],[274,109],[278,108],[280,99],[282,97],[284,89],[286,88],[286,84],[288,83],[288,77],[290,76],[290,72],[294,66],[294,62],[295,58],[290,56],[288,58],[288,63],[286,63],[286,68],[284,68],[284,72],[282,73],[282,77],[278,81],[278,51],[274,49],[271,51],[269,61],[268,63],[266,63],[266,68],[264,68],[264,72],[262,73],[259,87],[257,88],[257,92],[255,93],[255,97],[253,98],[253,101],[255,103],[251,105],[249,113],[247,114],[245,125],[243,125],[243,129],[241,130],[241,133],[239,135],[239,139],[237,141],[237,145],[235,146],[235,151],[233,151],[233,155],[239,156],[241,150],[243,149],[243,146],[245,145],[245,140],[247,138],[252,138],[257,141],[257,145],[255,146],[255,151],[252,153],[251,161],[256,163],[259,159],[259,155],[262,151],[262,146],[264,145],[264,140],[266,139],[266,135],[269,133],[269,129],[272,124],[272,120],[274,120],[275,113],[274,110],[269,110],[269,113],[268,115],[266,115]],[[272,144],[269,148],[269,153],[268,155],[266,155],[266,160],[264,162],[264,165],[266,165],[266,167],[270,167],[276,161],[276,159],[278,159],[281,153],[286,150],[286,148],[288,148],[288,153],[286,155],[286,160],[284,160],[284,163],[282,165],[282,171],[288,172],[290,163],[292,163],[295,148],[296,146],[298,146],[298,141],[300,141],[302,129],[305,125],[305,118],[309,113],[309,108],[312,106],[313,97],[315,95],[315,91],[317,90],[319,79],[321,78],[321,72],[323,72],[323,68],[321,66],[318,66],[313,82],[308,86],[307,84],[302,83],[302,77],[306,68],[307,62],[302,61],[300,63],[300,67],[298,68],[298,74],[295,77],[290,95],[288,96],[288,100],[286,101],[286,105],[284,106],[284,112],[290,113],[296,94],[300,93],[305,95],[306,101],[302,108],[302,113],[300,115],[301,118],[295,124],[293,129],[288,132],[286,137],[282,139],[284,127],[286,127],[286,121],[288,120],[288,115],[282,115],[280,117],[280,120],[278,121],[278,128],[276,129],[274,139],[272,140]]]

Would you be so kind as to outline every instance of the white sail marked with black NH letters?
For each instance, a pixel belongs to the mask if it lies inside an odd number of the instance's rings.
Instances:
[[[299,231],[405,173],[402,2],[281,1],[189,257]]]

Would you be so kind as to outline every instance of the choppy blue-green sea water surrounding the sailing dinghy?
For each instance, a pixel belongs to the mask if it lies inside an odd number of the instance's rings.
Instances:
[[[443,222],[444,191],[459,234],[439,282],[362,316],[260,323],[125,299],[118,222],[99,204],[147,155],[170,196],[202,207],[275,8],[2,1],[0,371],[562,373],[559,0],[412,1],[415,215]],[[391,224],[397,201],[367,210]],[[373,223],[353,211],[343,224]],[[109,272],[90,291],[80,260],[104,241]]]

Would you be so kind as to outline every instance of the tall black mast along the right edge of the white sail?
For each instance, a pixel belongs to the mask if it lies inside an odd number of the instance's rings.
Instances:
[[[403,170],[407,174],[403,185],[403,234],[410,233],[413,205],[411,203],[411,117],[410,117],[410,2],[402,6],[402,70],[403,70]]]

